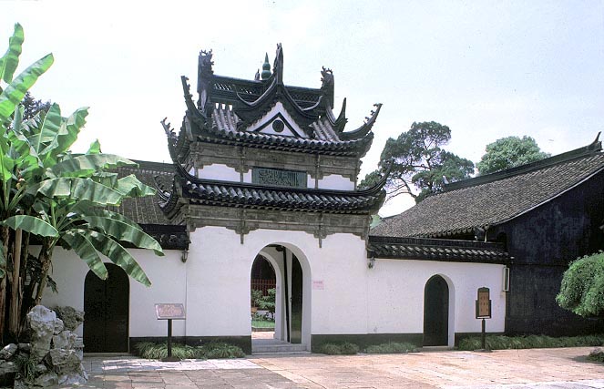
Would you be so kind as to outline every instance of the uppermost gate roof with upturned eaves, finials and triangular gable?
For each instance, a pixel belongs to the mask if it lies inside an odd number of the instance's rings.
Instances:
[[[333,114],[333,73],[322,69],[322,87],[292,87],[283,83],[282,47],[278,46],[271,76],[245,80],[215,75],[211,52],[200,53],[198,103],[193,103],[189,80],[181,77],[187,106],[186,120],[179,134],[164,123],[169,138],[170,155],[186,163],[189,142],[229,144],[250,148],[271,148],[304,153],[362,158],[374,138],[372,128],[380,104],[356,129],[344,131],[345,100],[340,115]],[[268,125],[276,117],[267,115],[277,106],[287,111],[288,126],[295,122],[296,132],[261,131],[255,127],[262,120]],[[274,112],[273,112],[274,113]],[[280,119],[281,120],[281,119]],[[292,126],[293,127],[293,126]],[[295,132],[295,131],[294,131]]]

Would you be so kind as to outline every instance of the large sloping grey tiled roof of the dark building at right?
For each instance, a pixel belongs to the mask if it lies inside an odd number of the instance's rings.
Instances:
[[[456,182],[371,230],[389,237],[447,237],[473,233],[532,210],[604,170],[596,141],[515,169]]]

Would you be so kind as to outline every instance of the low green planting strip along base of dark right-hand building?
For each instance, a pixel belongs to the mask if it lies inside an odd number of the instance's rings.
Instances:
[[[486,347],[491,350],[532,349],[554,347],[588,347],[604,344],[604,334],[585,336],[562,336],[553,338],[546,335],[503,336],[487,335]],[[477,350],[481,348],[480,337],[470,337],[459,342],[459,350]]]

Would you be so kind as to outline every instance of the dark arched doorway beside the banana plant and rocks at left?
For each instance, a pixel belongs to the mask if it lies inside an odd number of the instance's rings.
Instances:
[[[84,346],[87,353],[128,352],[128,274],[105,263],[107,280],[88,271],[84,282]]]

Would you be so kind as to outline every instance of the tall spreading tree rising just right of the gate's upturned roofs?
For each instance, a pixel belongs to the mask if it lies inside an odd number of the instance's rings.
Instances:
[[[409,194],[415,202],[444,188],[449,182],[467,179],[474,172],[474,163],[446,151],[442,147],[451,139],[451,129],[435,121],[413,123],[398,138],[386,141],[378,169],[369,173],[360,186],[366,187],[380,179],[387,169],[388,198]]]

